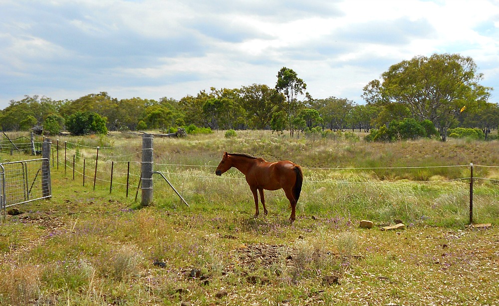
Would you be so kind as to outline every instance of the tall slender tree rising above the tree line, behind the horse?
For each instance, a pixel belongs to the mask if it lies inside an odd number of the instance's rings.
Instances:
[[[287,115],[287,123],[289,133],[294,134],[293,120],[296,113],[303,107],[303,102],[298,100],[298,95],[303,95],[307,84],[302,79],[298,78],[293,69],[282,67],[277,73],[277,83],[275,89],[282,92],[286,97],[284,110]],[[308,93],[306,94],[309,96]]]

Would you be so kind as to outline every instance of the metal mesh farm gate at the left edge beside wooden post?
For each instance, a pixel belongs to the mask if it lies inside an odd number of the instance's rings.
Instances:
[[[50,166],[47,158],[0,163],[2,209],[50,198]]]

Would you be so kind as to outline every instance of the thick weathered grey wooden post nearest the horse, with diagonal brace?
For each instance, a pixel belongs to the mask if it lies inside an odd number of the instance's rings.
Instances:
[[[148,206],[153,202],[153,135],[142,135],[142,206]]]

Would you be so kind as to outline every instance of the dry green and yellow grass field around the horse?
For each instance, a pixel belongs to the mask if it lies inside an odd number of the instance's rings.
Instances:
[[[0,228],[0,305],[498,304],[498,141],[385,144],[267,131],[155,138],[155,171],[189,207],[159,176],[152,205],[140,206],[140,192],[134,200],[140,136],[59,144],[52,198],[16,206],[21,214]],[[241,173],[214,174],[224,151],[304,168],[295,223],[282,190],[265,192],[268,215],[252,218]],[[481,178],[474,222],[491,227],[468,227],[470,163]],[[361,220],[376,226],[361,229]],[[380,230],[395,220],[406,228]]]

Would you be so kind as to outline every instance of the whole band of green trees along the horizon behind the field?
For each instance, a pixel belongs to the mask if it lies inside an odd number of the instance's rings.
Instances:
[[[357,129],[371,132],[370,139],[380,141],[404,138],[407,134],[400,131],[405,128],[410,138],[439,135],[445,141],[453,128],[479,128],[487,138],[499,125],[499,106],[488,102],[493,89],[479,84],[483,75],[477,65],[459,54],[416,56],[390,66],[380,79],[364,87],[366,104],[333,96],[315,99],[306,91],[306,83],[287,67],[276,77],[274,87],[212,87],[180,100],[118,100],[107,92],[75,100],[25,96],[1,110],[0,126],[8,131],[36,125],[45,133],[68,130],[76,135],[191,125],[212,130],[287,130],[291,136]]]

